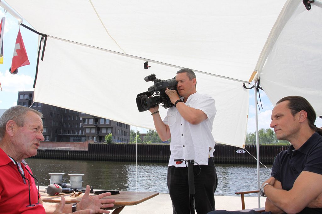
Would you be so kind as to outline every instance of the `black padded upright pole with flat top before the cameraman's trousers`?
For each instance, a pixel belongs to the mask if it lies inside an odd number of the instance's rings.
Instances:
[[[175,159],[175,162],[188,163],[188,187],[189,187],[189,203],[190,214],[194,214],[194,160]]]

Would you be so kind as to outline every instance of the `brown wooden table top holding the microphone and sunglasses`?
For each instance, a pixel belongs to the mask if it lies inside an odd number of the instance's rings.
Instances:
[[[130,192],[130,191],[119,191],[119,194],[110,195],[105,198],[115,199],[114,207],[109,208],[109,210],[114,210],[112,214],[120,213],[125,206],[128,205],[137,205],[143,201],[147,201],[150,198],[157,196],[157,192]],[[81,197],[84,194],[81,194],[77,198],[71,198],[71,193],[61,193],[59,195],[48,195],[44,193],[44,190],[39,190],[41,199],[44,202],[59,203],[62,196],[65,197],[66,203],[76,203],[81,201]],[[94,195],[90,193],[90,195]]]

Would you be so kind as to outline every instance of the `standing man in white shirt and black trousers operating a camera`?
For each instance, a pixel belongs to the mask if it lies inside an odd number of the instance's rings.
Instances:
[[[166,89],[166,95],[175,107],[167,111],[162,121],[159,106],[149,109],[156,131],[162,141],[171,137],[171,156],[168,165],[167,185],[174,214],[190,213],[188,191],[188,167],[175,159],[193,159],[195,209],[197,214],[215,210],[214,192],[217,173],[213,152],[215,141],[212,135],[213,119],[216,114],[215,101],[209,95],[196,91],[196,76],[191,69],[184,68],[176,73],[177,90]]]

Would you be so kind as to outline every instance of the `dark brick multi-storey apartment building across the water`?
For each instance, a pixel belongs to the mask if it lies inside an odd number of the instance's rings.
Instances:
[[[33,91],[19,91],[17,105],[31,107],[43,114],[45,141],[104,142],[112,134],[113,142],[128,143],[130,125],[88,115],[70,109],[33,102]]]

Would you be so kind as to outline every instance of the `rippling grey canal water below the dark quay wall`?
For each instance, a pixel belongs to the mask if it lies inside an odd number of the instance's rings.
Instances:
[[[51,172],[65,173],[63,182],[70,183],[68,174],[81,173],[82,187],[87,184],[94,189],[123,191],[153,191],[168,193],[166,185],[166,163],[134,163],[109,161],[82,161],[28,158],[26,162],[31,167],[33,175],[39,180],[39,185],[50,184]],[[260,180],[263,183],[270,177],[269,169],[260,167]],[[235,195],[235,192],[256,190],[256,165],[216,165],[218,187],[215,195]],[[248,196],[257,196],[250,194]]]

